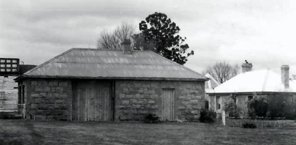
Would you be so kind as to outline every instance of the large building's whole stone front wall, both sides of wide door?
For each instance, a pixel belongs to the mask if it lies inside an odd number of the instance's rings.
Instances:
[[[23,79],[27,118],[71,119],[70,80]],[[115,120],[143,120],[148,113],[161,117],[164,88],[175,89],[175,119],[198,120],[204,108],[204,82],[115,80]]]

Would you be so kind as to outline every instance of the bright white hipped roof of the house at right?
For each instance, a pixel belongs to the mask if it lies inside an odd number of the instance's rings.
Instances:
[[[296,82],[290,81],[289,86],[285,89],[280,75],[264,69],[241,73],[217,86],[213,92],[296,92]]]

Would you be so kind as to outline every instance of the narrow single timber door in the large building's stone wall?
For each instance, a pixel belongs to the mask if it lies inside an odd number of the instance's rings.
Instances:
[[[162,89],[162,119],[172,121],[174,117],[175,90],[171,88]]]

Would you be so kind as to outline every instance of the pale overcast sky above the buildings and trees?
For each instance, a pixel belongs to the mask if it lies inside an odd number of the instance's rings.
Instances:
[[[95,48],[98,34],[122,22],[138,26],[167,14],[194,50],[185,66],[217,61],[296,74],[296,1],[5,1],[0,0],[0,57],[41,64],[72,47]]]

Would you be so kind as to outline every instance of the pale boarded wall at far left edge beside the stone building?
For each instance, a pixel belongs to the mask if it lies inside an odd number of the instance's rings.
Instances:
[[[17,83],[13,80],[15,76],[0,76],[0,111],[17,110]]]

